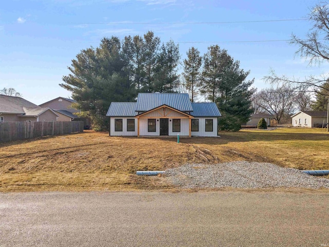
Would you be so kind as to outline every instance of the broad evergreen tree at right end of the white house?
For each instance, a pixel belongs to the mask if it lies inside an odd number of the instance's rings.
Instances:
[[[239,130],[253,112],[250,89],[253,80],[246,80],[250,74],[240,68],[240,62],[234,61],[218,45],[208,47],[204,56],[202,89],[208,100],[216,102],[222,113],[218,120],[221,130]]]

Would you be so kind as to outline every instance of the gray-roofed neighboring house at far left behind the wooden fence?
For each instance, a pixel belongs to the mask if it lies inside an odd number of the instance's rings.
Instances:
[[[59,115],[21,97],[0,95],[0,121],[57,121]]]

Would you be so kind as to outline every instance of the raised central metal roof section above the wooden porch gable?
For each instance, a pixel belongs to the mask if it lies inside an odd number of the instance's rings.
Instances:
[[[135,111],[149,111],[163,104],[181,112],[193,111],[189,95],[178,93],[139,93]]]

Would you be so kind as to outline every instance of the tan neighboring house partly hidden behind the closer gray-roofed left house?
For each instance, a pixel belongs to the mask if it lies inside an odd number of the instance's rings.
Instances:
[[[39,106],[53,109],[59,115],[58,121],[84,121],[84,126],[88,126],[89,119],[80,118],[75,115],[74,113],[80,113],[81,111],[72,108],[72,103],[76,103],[76,101],[74,99],[58,97],[42,103]]]

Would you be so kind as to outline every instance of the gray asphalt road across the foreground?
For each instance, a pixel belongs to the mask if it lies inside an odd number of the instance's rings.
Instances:
[[[329,246],[329,192],[0,193],[0,246]]]

